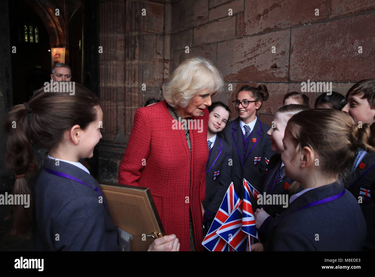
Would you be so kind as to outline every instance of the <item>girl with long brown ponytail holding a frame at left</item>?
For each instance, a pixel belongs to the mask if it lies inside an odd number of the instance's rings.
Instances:
[[[78,163],[93,156],[102,121],[98,98],[78,84],[74,95],[41,90],[7,114],[6,164],[16,175],[13,194],[31,193],[26,179],[38,168],[32,146],[48,149],[33,182],[33,208],[17,205],[12,211],[12,235],[24,236],[32,225],[36,250],[119,250],[104,194]],[[175,243],[175,236],[168,241]],[[151,245],[155,242],[162,241]]]

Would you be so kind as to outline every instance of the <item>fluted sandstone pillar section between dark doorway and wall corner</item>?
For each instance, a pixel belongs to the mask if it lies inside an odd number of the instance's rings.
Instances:
[[[98,145],[101,181],[117,182],[135,111],[148,98],[161,96],[166,4],[159,2],[99,2],[99,45],[103,47],[99,81],[104,114],[103,138]]]

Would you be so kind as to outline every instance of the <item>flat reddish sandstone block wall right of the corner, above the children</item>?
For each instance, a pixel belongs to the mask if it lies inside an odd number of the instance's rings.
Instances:
[[[270,123],[267,114],[303,81],[332,81],[333,90],[345,94],[353,82],[375,77],[372,0],[181,0],[172,1],[171,15],[171,70],[189,57],[211,59],[226,82],[213,100],[228,104],[233,117],[231,101],[245,84],[266,84],[270,98],[260,118]],[[321,92],[306,94],[312,107]]]

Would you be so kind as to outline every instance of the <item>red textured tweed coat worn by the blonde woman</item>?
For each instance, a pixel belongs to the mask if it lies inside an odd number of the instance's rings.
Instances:
[[[190,161],[184,129],[172,129],[173,118],[165,100],[138,108],[118,170],[120,184],[150,188],[165,233],[177,236],[180,251],[190,251],[189,207],[196,250],[203,250],[201,201],[206,187],[208,110],[204,112],[204,116],[192,117],[202,120],[203,126],[199,125],[202,132],[189,130]],[[145,166],[142,159],[146,160]]]

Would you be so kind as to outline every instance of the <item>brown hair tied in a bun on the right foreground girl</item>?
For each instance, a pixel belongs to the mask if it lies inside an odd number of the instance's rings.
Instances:
[[[333,109],[309,109],[289,121],[296,152],[308,146],[317,152],[320,169],[340,181],[350,175],[356,148],[375,152],[375,125],[359,124],[348,114]]]

